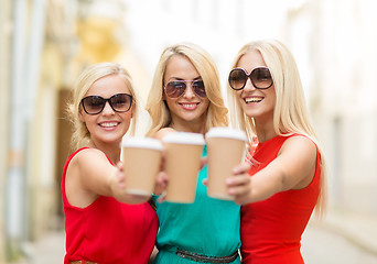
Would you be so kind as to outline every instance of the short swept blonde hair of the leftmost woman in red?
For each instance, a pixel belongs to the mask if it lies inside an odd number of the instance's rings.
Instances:
[[[132,96],[132,120],[131,120],[131,127],[130,127],[130,133],[133,134],[137,125],[137,119],[134,117],[138,116],[138,109],[139,109],[139,99],[138,95],[133,88],[132,79],[129,73],[122,68],[119,64],[116,63],[99,63],[91,66],[88,66],[84,69],[84,72],[79,75],[77,78],[74,90],[73,90],[73,100],[67,106],[67,113],[71,118],[71,121],[74,125],[74,132],[72,135],[72,147],[73,148],[79,148],[85,146],[89,140],[90,140],[90,132],[86,128],[86,124],[80,121],[79,114],[82,111],[80,102],[82,99],[85,97],[86,92],[89,90],[91,85],[106,76],[109,75],[118,75],[121,77],[131,96]]]

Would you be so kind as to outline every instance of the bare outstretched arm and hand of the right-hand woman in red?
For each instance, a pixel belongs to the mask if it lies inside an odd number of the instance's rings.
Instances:
[[[315,172],[316,147],[308,138],[293,136],[281,147],[277,158],[252,177],[247,177],[246,165],[235,168],[237,177],[227,180],[236,202],[245,205],[272,195],[306,187]]]

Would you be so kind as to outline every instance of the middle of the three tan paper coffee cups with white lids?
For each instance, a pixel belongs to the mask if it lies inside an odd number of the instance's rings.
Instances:
[[[194,202],[205,143],[203,135],[171,132],[162,141],[165,148],[165,170],[169,176],[166,201]]]

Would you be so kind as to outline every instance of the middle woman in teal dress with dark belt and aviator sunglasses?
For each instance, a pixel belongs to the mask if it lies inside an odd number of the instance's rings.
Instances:
[[[165,48],[147,110],[152,118],[148,135],[160,140],[176,131],[204,135],[213,127],[227,127],[228,111],[212,57],[192,43]],[[206,155],[204,146],[203,157]],[[154,263],[240,263],[240,207],[207,197],[205,178],[207,166],[198,173],[193,204],[159,202],[153,197],[160,222]]]

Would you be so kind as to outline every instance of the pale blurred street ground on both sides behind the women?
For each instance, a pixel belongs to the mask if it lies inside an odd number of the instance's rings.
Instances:
[[[58,264],[64,257],[64,232],[54,231],[30,245],[30,261],[18,264]],[[373,219],[330,212],[311,220],[302,238],[305,264],[376,264],[377,224]]]

